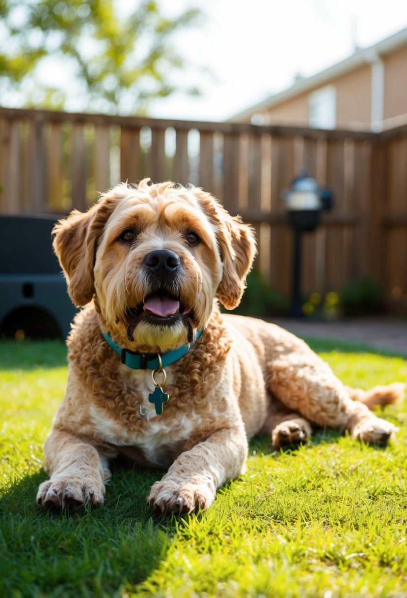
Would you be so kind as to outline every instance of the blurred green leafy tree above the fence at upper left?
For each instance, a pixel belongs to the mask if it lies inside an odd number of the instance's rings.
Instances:
[[[0,0],[2,103],[145,114],[175,90],[186,61],[172,37],[200,14],[171,20],[154,0],[127,16],[114,0]]]

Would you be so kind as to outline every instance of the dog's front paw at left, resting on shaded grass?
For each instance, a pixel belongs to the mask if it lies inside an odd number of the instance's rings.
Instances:
[[[59,477],[43,482],[38,489],[37,502],[41,507],[60,511],[64,507],[78,511],[92,502],[100,505],[104,499],[104,484],[100,480],[78,480]]]

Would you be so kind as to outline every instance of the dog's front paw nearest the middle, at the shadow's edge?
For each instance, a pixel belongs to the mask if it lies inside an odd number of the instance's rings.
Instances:
[[[214,498],[214,492],[203,482],[177,482],[164,478],[153,484],[147,501],[157,511],[181,514],[207,509]]]

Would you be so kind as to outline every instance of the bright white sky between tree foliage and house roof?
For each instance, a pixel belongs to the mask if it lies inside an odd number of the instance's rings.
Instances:
[[[125,10],[137,0],[122,0]],[[162,0],[175,16],[192,0]],[[406,0],[205,0],[199,26],[174,43],[190,66],[177,77],[199,98],[155,102],[156,118],[221,121],[407,27]],[[210,74],[209,74],[210,73]],[[177,79],[175,79],[177,80]]]

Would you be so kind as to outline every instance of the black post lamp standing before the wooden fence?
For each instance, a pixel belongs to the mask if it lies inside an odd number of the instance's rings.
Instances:
[[[286,202],[288,224],[294,230],[294,255],[292,261],[292,298],[289,315],[294,318],[303,316],[301,301],[301,258],[302,235],[315,230],[320,224],[322,210],[331,209],[332,191],[319,187],[301,168],[298,176],[292,180],[291,188],[282,191],[281,197]]]

